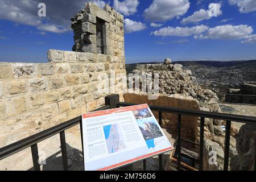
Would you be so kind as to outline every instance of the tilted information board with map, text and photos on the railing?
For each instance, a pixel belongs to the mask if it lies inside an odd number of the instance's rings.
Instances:
[[[85,170],[109,170],[172,150],[147,104],[82,114]]]

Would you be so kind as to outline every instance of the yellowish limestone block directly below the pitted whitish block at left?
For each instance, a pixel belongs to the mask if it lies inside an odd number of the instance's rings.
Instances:
[[[15,80],[8,82],[7,89],[9,94],[18,94],[18,93],[24,93],[27,92],[27,81],[25,80]]]

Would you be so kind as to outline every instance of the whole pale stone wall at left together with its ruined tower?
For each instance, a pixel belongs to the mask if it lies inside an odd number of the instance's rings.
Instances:
[[[77,28],[83,23],[84,28],[74,30],[76,52],[51,49],[46,64],[0,63],[0,147],[94,110],[111,93],[120,94],[122,100],[123,16],[109,6],[101,10],[89,3],[81,13],[84,18],[75,16],[72,24]],[[109,28],[99,28],[104,39],[98,46],[102,52],[97,53],[98,19]],[[100,92],[106,87],[109,92]]]

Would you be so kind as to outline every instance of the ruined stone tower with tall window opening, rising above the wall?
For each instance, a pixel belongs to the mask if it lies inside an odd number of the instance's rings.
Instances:
[[[101,53],[124,59],[123,15],[109,5],[102,10],[93,3],[85,3],[84,9],[71,20],[75,34],[73,51]]]

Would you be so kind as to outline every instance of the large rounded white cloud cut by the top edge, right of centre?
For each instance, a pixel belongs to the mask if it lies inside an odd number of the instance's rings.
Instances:
[[[164,22],[187,13],[188,0],[154,0],[144,11],[144,17],[151,22]]]

